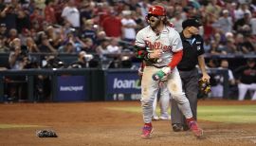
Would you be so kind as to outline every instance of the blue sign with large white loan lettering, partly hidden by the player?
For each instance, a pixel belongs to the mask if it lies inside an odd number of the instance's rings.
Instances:
[[[108,72],[106,84],[106,100],[137,100],[132,97],[141,92],[137,71]]]

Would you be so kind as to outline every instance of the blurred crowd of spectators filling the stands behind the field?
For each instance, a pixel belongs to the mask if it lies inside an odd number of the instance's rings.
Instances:
[[[206,53],[255,56],[256,0],[0,0],[0,53],[9,53],[9,69],[46,65],[28,64],[29,53],[132,54],[147,9],[159,3],[179,32],[184,20],[201,20]]]

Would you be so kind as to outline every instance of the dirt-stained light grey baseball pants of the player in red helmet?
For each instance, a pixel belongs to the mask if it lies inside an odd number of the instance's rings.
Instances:
[[[153,102],[159,90],[158,81],[152,79],[153,74],[161,68],[155,66],[145,66],[142,81],[141,81],[141,106],[143,120],[145,123],[150,123],[153,116]],[[190,119],[192,118],[192,111],[189,100],[186,98],[185,93],[182,91],[182,82],[179,72],[175,67],[172,73],[167,77],[167,88],[172,97],[177,102],[177,106],[183,115]]]

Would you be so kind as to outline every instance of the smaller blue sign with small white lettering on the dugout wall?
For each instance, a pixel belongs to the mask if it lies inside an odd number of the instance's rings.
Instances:
[[[88,100],[84,76],[60,76],[57,84],[57,100]]]

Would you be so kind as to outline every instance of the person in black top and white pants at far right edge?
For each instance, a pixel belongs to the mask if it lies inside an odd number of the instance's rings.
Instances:
[[[247,59],[247,64],[235,70],[238,83],[238,100],[245,100],[247,91],[251,93],[251,100],[256,100],[256,65],[254,59]]]

